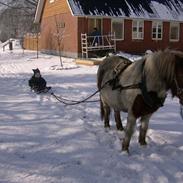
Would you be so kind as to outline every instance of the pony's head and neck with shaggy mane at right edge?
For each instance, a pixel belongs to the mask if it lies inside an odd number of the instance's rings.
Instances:
[[[150,54],[147,60],[146,69],[153,81],[158,82],[161,78],[166,90],[170,90],[172,97],[176,96],[183,106],[183,52],[166,49]]]

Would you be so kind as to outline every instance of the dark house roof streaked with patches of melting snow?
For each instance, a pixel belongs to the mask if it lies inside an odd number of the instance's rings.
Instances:
[[[45,0],[39,0],[40,22]],[[107,16],[183,21],[183,0],[67,0],[74,16]]]

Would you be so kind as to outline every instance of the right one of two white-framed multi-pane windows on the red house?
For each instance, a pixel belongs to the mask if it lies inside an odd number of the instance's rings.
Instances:
[[[162,22],[152,22],[152,39],[161,40],[163,33]]]

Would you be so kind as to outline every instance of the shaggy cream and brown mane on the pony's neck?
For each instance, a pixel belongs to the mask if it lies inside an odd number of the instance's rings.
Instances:
[[[153,80],[163,80],[170,86],[175,77],[176,56],[182,57],[182,52],[166,49],[154,52],[146,57],[146,72]]]

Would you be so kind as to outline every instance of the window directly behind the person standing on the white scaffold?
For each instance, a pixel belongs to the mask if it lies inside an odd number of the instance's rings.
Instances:
[[[97,28],[102,33],[102,19],[89,18],[88,19],[88,33],[92,33],[94,28]]]

